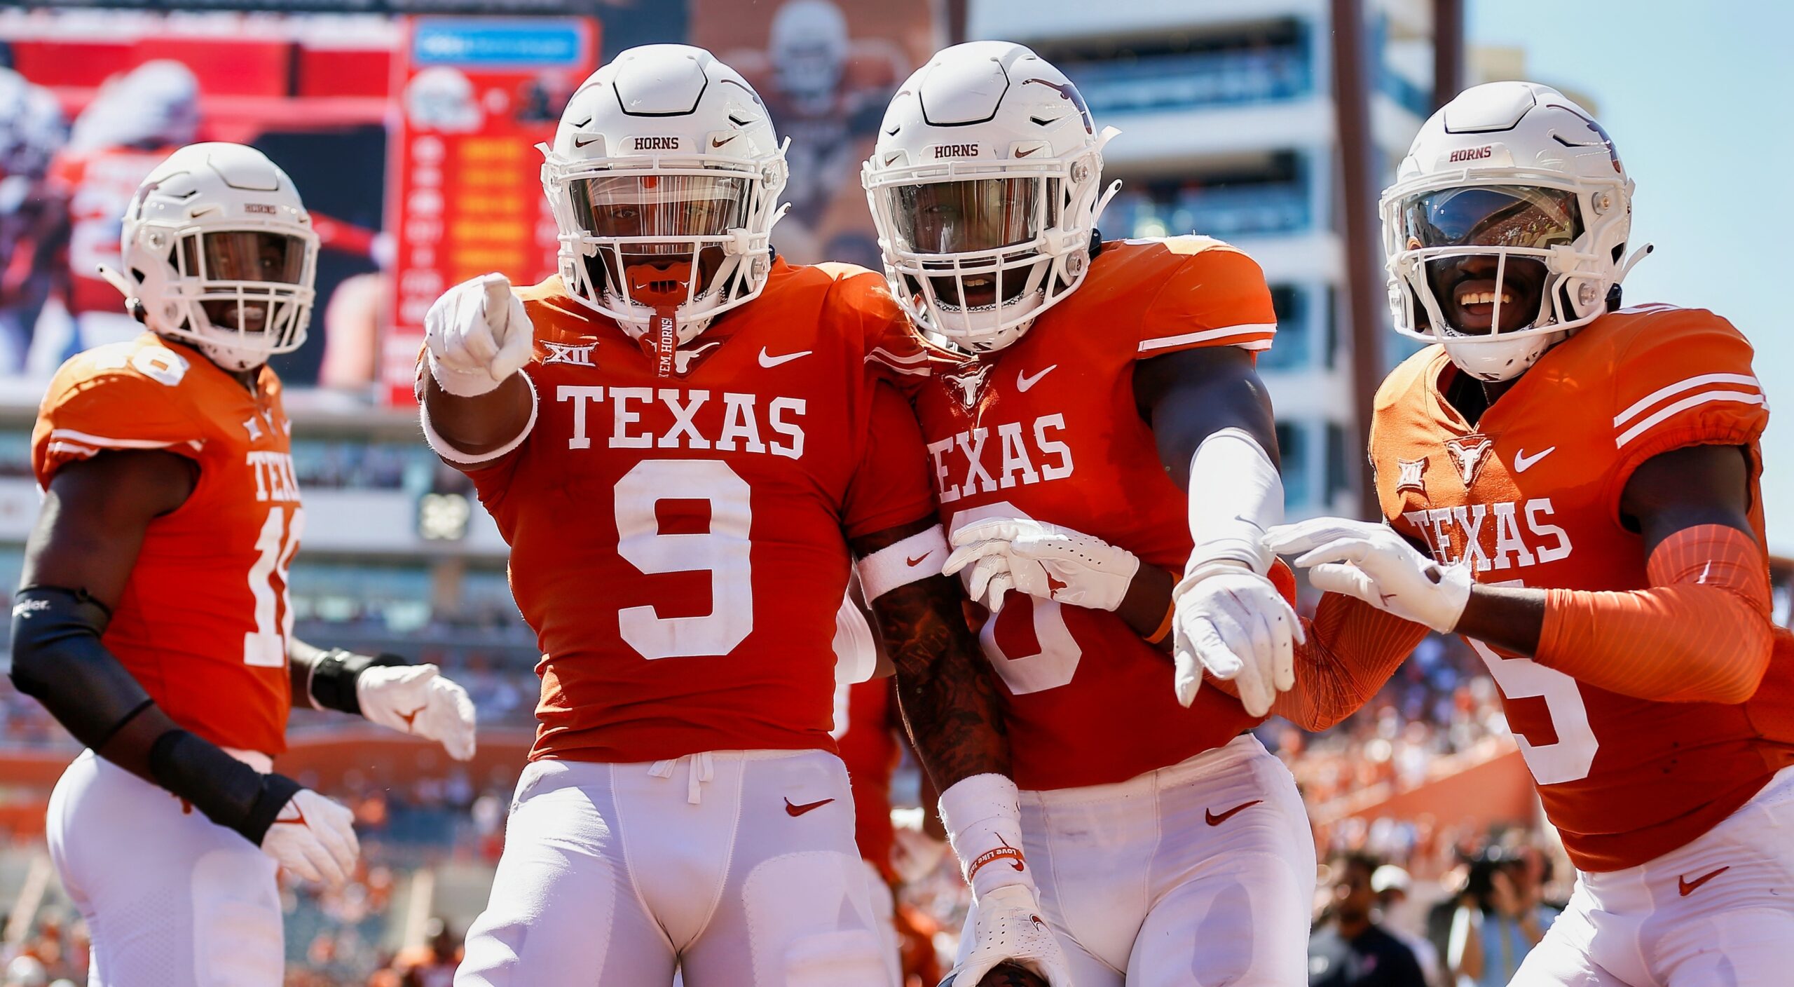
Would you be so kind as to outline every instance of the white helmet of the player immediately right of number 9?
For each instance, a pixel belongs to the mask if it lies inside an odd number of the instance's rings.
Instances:
[[[861,169],[892,294],[924,330],[1001,350],[1091,262],[1102,149],[1084,97],[1010,41],[938,52],[892,97]]]

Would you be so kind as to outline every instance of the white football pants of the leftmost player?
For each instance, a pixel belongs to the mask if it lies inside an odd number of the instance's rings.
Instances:
[[[280,987],[274,858],[240,834],[83,750],[47,836],[93,939],[90,987]]]

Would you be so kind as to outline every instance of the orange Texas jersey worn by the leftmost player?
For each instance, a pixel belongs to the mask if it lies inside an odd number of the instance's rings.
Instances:
[[[149,522],[104,642],[176,723],[273,756],[287,747],[287,565],[305,519],[273,370],[258,391],[145,332],[56,371],[30,456],[39,486],[109,449],[199,467],[187,502]]]

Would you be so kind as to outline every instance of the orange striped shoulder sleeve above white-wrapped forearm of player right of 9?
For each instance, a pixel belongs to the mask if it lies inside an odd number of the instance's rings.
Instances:
[[[1198,346],[1270,348],[1277,312],[1256,260],[1207,237],[1161,246],[1179,264],[1141,316],[1141,359]]]

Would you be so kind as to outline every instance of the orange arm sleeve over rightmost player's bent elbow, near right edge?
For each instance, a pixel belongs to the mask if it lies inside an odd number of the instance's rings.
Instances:
[[[1534,660],[1640,700],[1749,700],[1772,648],[1764,549],[1701,524],[1665,538],[1647,574],[1631,592],[1546,590]]]

